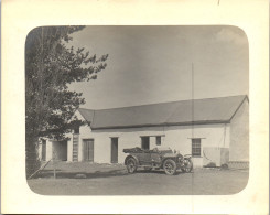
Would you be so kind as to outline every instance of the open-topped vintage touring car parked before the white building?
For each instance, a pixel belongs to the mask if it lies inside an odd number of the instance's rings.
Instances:
[[[123,152],[129,153],[125,159],[129,173],[134,173],[138,168],[144,168],[145,170],[163,169],[166,174],[173,175],[179,169],[183,172],[191,172],[193,169],[191,155],[182,155],[170,148],[145,150],[137,147],[123,149]]]

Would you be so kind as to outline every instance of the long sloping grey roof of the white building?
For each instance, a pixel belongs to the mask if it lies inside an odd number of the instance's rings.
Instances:
[[[180,100],[142,106],[88,110],[79,108],[91,129],[162,125],[229,122],[247,96]],[[192,114],[192,105],[194,112]]]

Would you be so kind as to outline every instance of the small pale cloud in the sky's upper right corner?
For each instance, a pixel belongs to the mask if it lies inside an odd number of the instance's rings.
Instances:
[[[215,34],[215,40],[218,42],[234,43],[236,45],[246,45],[247,36],[240,29],[223,28]]]

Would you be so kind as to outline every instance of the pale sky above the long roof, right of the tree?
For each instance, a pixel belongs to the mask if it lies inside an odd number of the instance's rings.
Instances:
[[[248,95],[248,39],[236,26],[86,26],[69,45],[109,54],[96,80],[74,83],[82,108]]]

